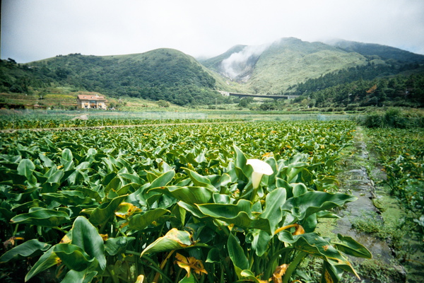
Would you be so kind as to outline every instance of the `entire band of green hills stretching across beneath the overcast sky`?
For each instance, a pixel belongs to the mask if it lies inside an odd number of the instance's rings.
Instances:
[[[218,93],[231,91],[300,96],[294,102],[309,108],[423,107],[423,64],[423,55],[394,47],[292,37],[271,45],[236,45],[201,64],[171,49],[58,55],[28,64],[8,59],[0,61],[0,93],[8,93],[0,103],[10,104],[13,93],[45,98],[61,89],[71,96],[90,91],[182,106],[234,103]],[[283,104],[267,103],[263,109],[281,110]]]

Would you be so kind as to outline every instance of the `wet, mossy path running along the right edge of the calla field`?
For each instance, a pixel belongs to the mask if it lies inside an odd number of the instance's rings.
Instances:
[[[348,282],[384,282],[400,283],[406,282],[406,271],[395,258],[394,250],[389,246],[387,240],[375,236],[375,233],[364,233],[355,229],[362,223],[363,226],[382,227],[384,220],[382,212],[375,207],[373,200],[375,195],[375,183],[368,174],[367,165],[370,164],[370,154],[364,141],[363,131],[358,128],[355,135],[353,152],[344,163],[341,179],[341,190],[350,192],[358,197],[355,202],[350,202],[343,209],[334,227],[334,233],[351,236],[356,241],[367,247],[373,255],[372,260],[351,258],[358,269],[362,280]],[[378,171],[379,169],[377,169]],[[381,172],[381,170],[380,170]]]

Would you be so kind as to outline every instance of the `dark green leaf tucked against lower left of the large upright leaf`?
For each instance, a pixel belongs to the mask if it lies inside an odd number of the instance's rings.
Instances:
[[[90,241],[87,239],[86,241]],[[84,250],[76,245],[69,243],[59,243],[54,246],[53,252],[61,261],[71,270],[85,270],[94,260]]]

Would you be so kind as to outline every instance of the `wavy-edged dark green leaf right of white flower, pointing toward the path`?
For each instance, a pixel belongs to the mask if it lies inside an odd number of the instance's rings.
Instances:
[[[298,197],[290,197],[283,205],[283,210],[292,213],[299,220],[322,210],[341,207],[346,202],[353,202],[357,197],[342,193],[305,192]]]

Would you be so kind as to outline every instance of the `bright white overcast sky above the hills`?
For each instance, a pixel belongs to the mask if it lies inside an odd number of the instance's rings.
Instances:
[[[281,37],[424,54],[424,0],[2,0],[1,59],[142,53],[213,57]]]

